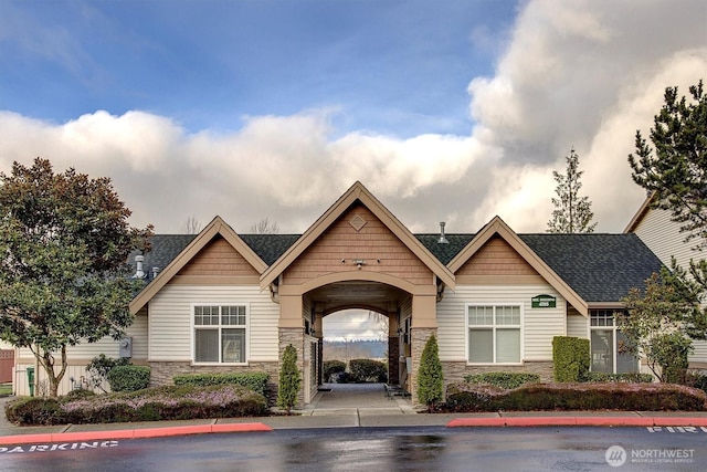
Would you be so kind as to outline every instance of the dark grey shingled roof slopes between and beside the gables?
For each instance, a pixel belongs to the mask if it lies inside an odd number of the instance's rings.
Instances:
[[[272,265],[297,241],[299,234],[239,234],[267,265]],[[446,234],[447,243],[439,243],[439,234],[415,238],[444,265],[473,239],[473,233]],[[662,263],[633,233],[605,234],[518,234],[518,237],[585,302],[619,302],[631,287],[644,286]],[[165,269],[194,234],[156,234],[151,251],[145,254],[148,280],[151,269]],[[134,258],[131,258],[133,261]]]

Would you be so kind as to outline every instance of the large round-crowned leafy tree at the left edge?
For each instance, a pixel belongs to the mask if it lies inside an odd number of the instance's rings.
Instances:
[[[129,216],[108,178],[55,175],[41,158],[0,172],[0,339],[32,352],[52,397],[67,346],[117,339],[133,323],[126,261],[151,227],[130,228]]]

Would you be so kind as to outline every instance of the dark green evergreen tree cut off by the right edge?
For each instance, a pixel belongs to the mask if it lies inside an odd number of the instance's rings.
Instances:
[[[707,94],[703,81],[689,87],[690,99],[677,87],[665,90],[655,115],[651,143],[636,130],[635,155],[629,155],[633,180],[653,195],[653,208],[671,211],[686,241],[707,244]]]

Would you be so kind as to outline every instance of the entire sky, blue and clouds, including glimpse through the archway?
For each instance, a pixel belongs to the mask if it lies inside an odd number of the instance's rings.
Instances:
[[[706,71],[704,0],[0,0],[0,171],[109,177],[159,233],[300,233],[356,180],[413,232],[544,232],[573,148],[621,232],[636,129]]]

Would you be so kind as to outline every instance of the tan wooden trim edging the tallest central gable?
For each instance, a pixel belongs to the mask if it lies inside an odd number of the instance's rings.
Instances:
[[[444,266],[366,187],[354,183],[312,227],[261,276],[261,289],[265,290],[309,248],[354,202],[359,200],[395,237],[412,251],[432,273],[454,290],[454,274]],[[432,283],[433,281],[431,281]]]

